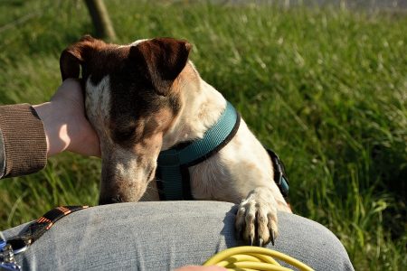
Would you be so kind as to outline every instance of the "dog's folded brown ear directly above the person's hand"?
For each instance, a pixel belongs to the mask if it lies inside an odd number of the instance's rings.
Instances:
[[[78,79],[80,77],[80,65],[85,61],[86,56],[90,54],[90,50],[95,47],[96,43],[100,43],[90,35],[84,35],[76,42],[62,51],[60,57],[60,70],[62,81],[68,78]]]

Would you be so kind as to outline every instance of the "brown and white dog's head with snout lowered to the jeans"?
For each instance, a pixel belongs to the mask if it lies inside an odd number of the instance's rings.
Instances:
[[[99,203],[138,201],[156,171],[163,135],[179,113],[176,79],[191,45],[163,38],[108,44],[90,36],[62,51],[62,79],[80,78],[100,139]]]

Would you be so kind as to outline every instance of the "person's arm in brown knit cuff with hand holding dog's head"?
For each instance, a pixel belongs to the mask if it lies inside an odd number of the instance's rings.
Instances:
[[[0,107],[0,178],[35,173],[68,150],[96,155],[99,138],[85,117],[78,80],[67,79],[49,102]]]

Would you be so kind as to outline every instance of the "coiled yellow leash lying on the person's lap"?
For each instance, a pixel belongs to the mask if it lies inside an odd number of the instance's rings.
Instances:
[[[297,267],[299,270],[314,270],[311,267],[301,263],[293,257],[289,257],[278,251],[269,248],[260,247],[237,247],[228,248],[213,257],[209,258],[204,266],[222,266],[228,270],[276,270],[276,271],[289,271],[290,268],[280,266],[279,263],[273,258],[276,257],[288,263],[291,266]]]

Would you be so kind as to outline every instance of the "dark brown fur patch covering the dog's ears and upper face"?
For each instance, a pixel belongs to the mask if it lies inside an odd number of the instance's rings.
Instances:
[[[178,88],[172,85],[185,67],[190,48],[187,42],[169,38],[118,46],[88,35],[62,52],[62,79],[79,78],[80,66],[82,79],[90,79],[93,85],[109,75],[109,131],[118,144],[134,144],[152,133],[153,127],[167,129],[155,126],[156,117],[151,116],[159,117],[167,108],[174,118],[179,111]],[[153,123],[148,124],[149,120]]]

